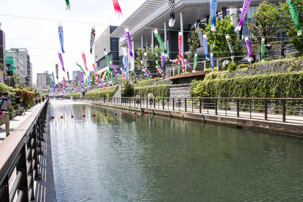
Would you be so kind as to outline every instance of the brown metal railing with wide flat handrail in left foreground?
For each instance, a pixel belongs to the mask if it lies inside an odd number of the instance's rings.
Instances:
[[[38,164],[47,110],[48,99],[0,143],[1,202],[34,199],[34,180],[41,179]],[[14,173],[16,178],[9,183]]]

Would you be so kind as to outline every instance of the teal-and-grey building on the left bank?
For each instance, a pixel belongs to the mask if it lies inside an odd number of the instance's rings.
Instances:
[[[6,50],[6,68],[7,73],[10,76],[13,76],[14,74],[17,76],[14,76],[15,81],[18,85],[25,86],[25,80],[24,80],[24,62],[22,58],[20,57],[20,52],[18,50]]]

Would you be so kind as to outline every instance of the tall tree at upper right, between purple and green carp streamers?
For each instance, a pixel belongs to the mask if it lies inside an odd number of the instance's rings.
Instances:
[[[276,9],[276,5],[264,1],[259,4],[257,12],[252,15],[251,21],[253,23],[248,23],[248,29],[251,30],[251,40],[254,43],[261,44],[262,37],[264,37],[266,44],[267,37],[271,36],[275,31],[274,28],[277,27],[277,25],[273,20],[275,16],[273,15],[274,9]]]

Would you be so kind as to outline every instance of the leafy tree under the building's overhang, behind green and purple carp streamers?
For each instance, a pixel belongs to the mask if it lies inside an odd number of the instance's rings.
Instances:
[[[162,52],[163,52],[162,49],[161,48],[154,48],[154,51],[152,51],[151,48],[149,48],[145,52],[147,53],[146,67],[148,68],[148,70],[150,72],[151,71],[157,71],[156,61],[158,61],[158,64],[161,66],[161,56],[162,56]],[[138,51],[137,51],[138,57],[135,60],[135,66],[137,67],[137,69],[141,69],[140,61],[143,60],[143,55],[144,55],[145,52],[142,51],[142,48],[138,48]],[[164,65],[167,65],[167,64],[168,64],[168,61],[165,61]]]

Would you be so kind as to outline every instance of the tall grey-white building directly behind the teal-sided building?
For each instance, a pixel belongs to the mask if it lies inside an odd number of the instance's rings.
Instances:
[[[33,84],[33,77],[32,77],[32,63],[30,61],[31,56],[28,55],[28,51],[26,48],[11,48],[11,50],[18,50],[19,56],[22,58],[24,62],[24,84],[26,86]]]

